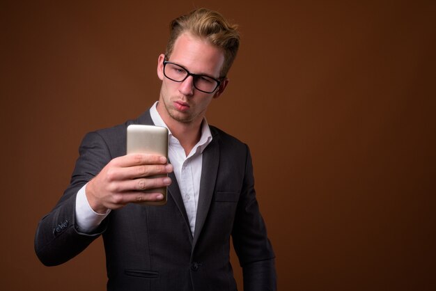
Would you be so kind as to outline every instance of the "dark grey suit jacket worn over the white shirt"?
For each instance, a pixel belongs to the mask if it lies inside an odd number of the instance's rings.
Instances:
[[[203,152],[194,237],[173,173],[166,205],[129,204],[112,211],[95,233],[78,229],[77,191],[125,155],[130,124],[153,125],[150,112],[84,137],[70,187],[38,225],[35,249],[42,263],[66,262],[103,235],[108,290],[236,290],[232,237],[244,290],[275,290],[274,252],[258,209],[249,148],[216,127],[210,127],[212,142]]]

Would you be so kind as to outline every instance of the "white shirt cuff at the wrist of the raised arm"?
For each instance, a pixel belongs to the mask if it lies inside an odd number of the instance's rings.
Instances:
[[[81,187],[76,196],[76,225],[84,233],[92,233],[102,223],[103,219],[107,217],[111,210],[106,213],[100,214],[95,212],[91,205],[89,205],[88,198],[86,198],[86,185]]]

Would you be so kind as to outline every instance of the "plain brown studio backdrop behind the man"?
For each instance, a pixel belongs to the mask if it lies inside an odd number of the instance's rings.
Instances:
[[[302,2],[2,1],[0,289],[105,289],[101,239],[44,267],[36,224],[84,134],[157,99],[169,21],[205,6],[240,24],[208,121],[251,146],[279,289],[435,290],[436,2]]]

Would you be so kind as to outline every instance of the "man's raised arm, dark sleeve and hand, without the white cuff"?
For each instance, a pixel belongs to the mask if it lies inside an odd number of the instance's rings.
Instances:
[[[138,190],[170,184],[169,178],[148,178],[169,173],[172,166],[157,155],[124,155],[112,159],[106,141],[97,132],[87,134],[79,148],[79,159],[70,187],[52,212],[43,217],[35,237],[35,251],[45,265],[59,265],[83,251],[109,223],[110,215],[91,233],[82,232],[76,223],[77,192],[86,184],[86,198],[95,212],[116,210],[127,203],[158,200],[158,193]]]

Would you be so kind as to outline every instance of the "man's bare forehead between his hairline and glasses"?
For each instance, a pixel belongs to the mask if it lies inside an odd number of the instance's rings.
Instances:
[[[224,52],[208,40],[182,33],[174,43],[169,61],[178,63],[190,72],[219,77],[224,63]]]

